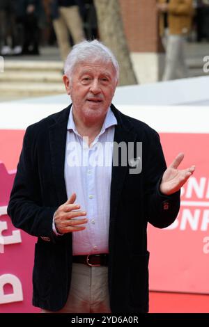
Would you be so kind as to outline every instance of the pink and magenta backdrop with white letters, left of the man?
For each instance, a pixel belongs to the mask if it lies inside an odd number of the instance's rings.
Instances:
[[[11,169],[17,166],[23,136],[24,131],[0,130],[0,243],[7,243],[0,244],[0,312],[4,313],[40,311],[31,305],[36,237],[17,230],[3,214],[15,177]]]

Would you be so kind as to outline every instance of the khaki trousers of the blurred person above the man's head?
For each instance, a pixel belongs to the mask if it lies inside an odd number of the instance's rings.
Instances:
[[[65,61],[71,49],[69,33],[75,44],[85,38],[78,6],[59,7],[59,18],[53,20],[53,25],[61,58]]]

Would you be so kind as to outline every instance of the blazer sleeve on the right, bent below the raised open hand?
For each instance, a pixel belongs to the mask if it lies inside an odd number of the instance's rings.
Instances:
[[[175,221],[180,208],[180,191],[171,196],[160,193],[160,182],[167,165],[164,159],[160,137],[155,132],[149,150],[146,168],[146,196],[148,222],[157,228],[166,228]]]

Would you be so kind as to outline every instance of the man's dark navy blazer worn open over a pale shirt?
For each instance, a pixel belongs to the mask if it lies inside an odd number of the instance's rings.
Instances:
[[[165,228],[175,220],[180,192],[159,191],[166,163],[156,131],[111,105],[118,125],[114,141],[142,142],[142,170],[112,167],[109,213],[111,312],[148,312],[147,224]],[[8,214],[16,228],[38,237],[33,268],[33,305],[60,310],[70,289],[72,234],[56,236],[54,212],[67,200],[64,162],[70,106],[26,129]]]

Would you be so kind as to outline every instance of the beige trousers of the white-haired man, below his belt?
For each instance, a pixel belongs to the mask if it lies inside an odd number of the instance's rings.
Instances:
[[[111,313],[109,307],[107,266],[72,264],[72,279],[68,301],[56,312],[42,313]]]

